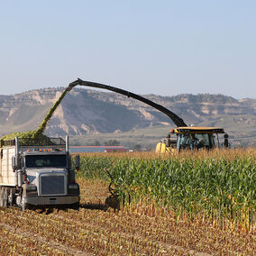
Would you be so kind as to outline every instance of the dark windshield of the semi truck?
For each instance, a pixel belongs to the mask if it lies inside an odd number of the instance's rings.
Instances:
[[[67,167],[66,155],[26,156],[25,165],[30,167]]]

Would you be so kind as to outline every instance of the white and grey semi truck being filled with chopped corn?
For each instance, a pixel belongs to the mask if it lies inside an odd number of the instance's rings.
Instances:
[[[76,157],[75,169],[79,168]],[[69,136],[0,141],[0,206],[78,208],[79,186]]]

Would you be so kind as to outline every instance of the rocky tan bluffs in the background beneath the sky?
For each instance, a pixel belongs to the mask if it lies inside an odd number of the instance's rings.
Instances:
[[[0,135],[36,129],[64,88],[0,96]],[[167,107],[187,125],[222,126],[237,137],[256,136],[256,99],[223,95],[178,95],[146,98]],[[50,136],[136,131],[152,125],[175,126],[149,105],[114,93],[75,88],[63,99],[46,130]]]

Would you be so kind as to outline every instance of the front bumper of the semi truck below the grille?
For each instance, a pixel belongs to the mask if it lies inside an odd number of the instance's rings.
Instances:
[[[25,203],[32,206],[61,206],[73,205],[79,202],[79,196],[65,196],[65,197],[26,197]]]

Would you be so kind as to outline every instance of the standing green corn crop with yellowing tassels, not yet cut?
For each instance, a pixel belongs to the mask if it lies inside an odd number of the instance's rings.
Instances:
[[[111,181],[125,203],[154,202],[176,215],[202,215],[209,221],[229,220],[250,228],[256,221],[255,160],[253,149],[169,157],[86,154],[81,157],[80,175]]]

